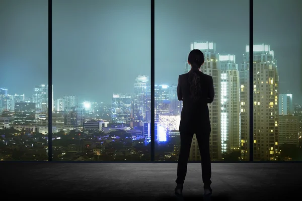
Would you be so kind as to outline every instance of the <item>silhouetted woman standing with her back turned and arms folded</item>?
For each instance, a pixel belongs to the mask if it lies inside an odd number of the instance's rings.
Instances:
[[[204,198],[209,198],[212,194],[209,150],[211,125],[207,104],[212,103],[214,99],[213,79],[199,70],[204,63],[204,55],[200,50],[190,52],[188,63],[191,65],[191,70],[186,74],[179,75],[177,86],[177,96],[179,100],[183,101],[183,109],[179,126],[180,153],[175,194],[180,198],[182,197],[191,142],[195,133],[201,156]]]

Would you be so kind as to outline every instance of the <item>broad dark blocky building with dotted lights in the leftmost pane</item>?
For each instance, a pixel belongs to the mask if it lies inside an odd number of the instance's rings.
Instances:
[[[35,125],[36,104],[35,103],[16,103],[15,124],[16,125]]]

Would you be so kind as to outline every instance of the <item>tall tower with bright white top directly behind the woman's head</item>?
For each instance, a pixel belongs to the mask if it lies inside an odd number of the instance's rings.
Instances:
[[[209,116],[211,124],[211,135],[210,135],[210,155],[212,161],[221,160],[221,102],[220,102],[220,76],[221,72],[217,65],[217,55],[216,55],[216,44],[213,42],[192,42],[190,50],[199,49],[204,54],[204,64],[201,66],[201,71],[205,74],[211,75],[214,83],[215,97],[213,103],[209,104]],[[185,62],[185,73],[189,72],[191,69],[188,62]],[[190,160],[199,160],[199,148],[196,136],[193,137],[193,142],[190,151]],[[195,145],[195,146],[194,146]]]

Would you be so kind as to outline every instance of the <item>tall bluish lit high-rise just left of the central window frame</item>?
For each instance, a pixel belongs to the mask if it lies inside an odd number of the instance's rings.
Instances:
[[[146,121],[147,89],[149,77],[137,76],[134,83],[133,115],[134,120]]]

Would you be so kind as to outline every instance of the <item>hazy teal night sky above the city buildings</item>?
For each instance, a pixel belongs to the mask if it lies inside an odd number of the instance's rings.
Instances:
[[[279,90],[302,99],[302,1],[255,0],[254,44],[269,44]],[[150,75],[149,0],[53,0],[54,97],[111,103]],[[193,41],[213,41],[217,53],[242,62],[249,44],[248,0],[156,0],[155,80],[177,83]],[[0,1],[0,87],[32,96],[48,82],[48,1]]]

